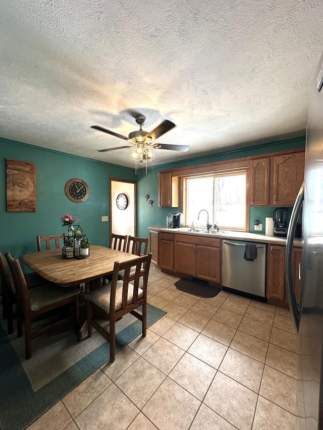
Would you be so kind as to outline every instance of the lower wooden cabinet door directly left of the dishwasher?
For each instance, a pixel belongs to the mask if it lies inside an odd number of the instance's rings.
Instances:
[[[196,277],[220,284],[221,248],[196,247]]]

